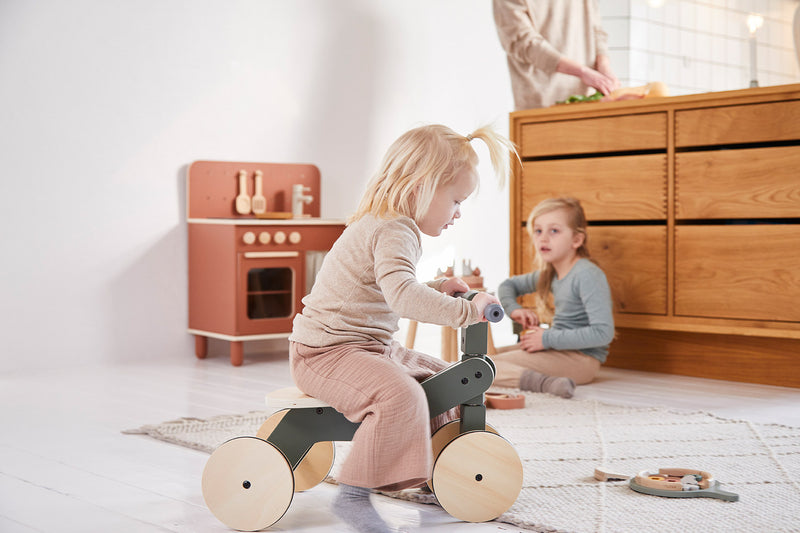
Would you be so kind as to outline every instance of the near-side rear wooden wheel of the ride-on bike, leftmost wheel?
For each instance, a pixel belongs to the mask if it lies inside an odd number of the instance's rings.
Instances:
[[[256,437],[237,437],[211,454],[202,486],[203,499],[220,522],[239,531],[258,531],[289,509],[294,476],[275,446]]]

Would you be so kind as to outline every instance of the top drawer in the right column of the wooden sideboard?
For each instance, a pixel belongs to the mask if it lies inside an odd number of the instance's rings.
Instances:
[[[675,112],[679,148],[800,139],[800,100]]]

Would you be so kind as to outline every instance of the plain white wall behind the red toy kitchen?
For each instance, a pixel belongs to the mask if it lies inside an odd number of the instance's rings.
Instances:
[[[490,0],[2,0],[0,371],[194,357],[190,162],[314,163],[343,218],[402,132],[507,132],[511,108]],[[508,274],[508,189],[482,168],[421,277]]]

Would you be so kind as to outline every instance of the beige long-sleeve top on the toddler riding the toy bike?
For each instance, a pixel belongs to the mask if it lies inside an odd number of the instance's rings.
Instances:
[[[477,306],[420,283],[422,240],[408,217],[371,215],[350,224],[317,274],[289,340],[312,347],[379,341],[389,345],[399,319],[459,328],[481,320]]]

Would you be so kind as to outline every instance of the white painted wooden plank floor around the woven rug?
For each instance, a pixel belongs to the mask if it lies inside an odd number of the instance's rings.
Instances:
[[[120,431],[261,409],[265,392],[291,384],[286,358],[248,355],[239,368],[221,353],[172,359],[0,376],[0,531],[227,531],[203,504],[206,454]],[[576,397],[800,425],[800,389],[604,369]],[[296,495],[271,530],[345,531],[328,509],[334,490],[323,483]],[[404,531],[521,531],[460,523],[433,505],[376,505]]]

